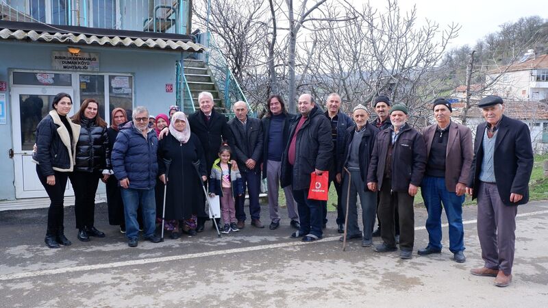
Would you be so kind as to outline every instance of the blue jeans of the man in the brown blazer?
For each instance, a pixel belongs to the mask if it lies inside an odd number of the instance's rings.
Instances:
[[[433,249],[441,249],[441,209],[442,203],[449,222],[449,251],[456,253],[464,251],[464,227],[462,226],[462,203],[464,194],[457,196],[447,191],[443,177],[425,176],[421,184],[421,194],[428,211],[426,229],[428,245]]]

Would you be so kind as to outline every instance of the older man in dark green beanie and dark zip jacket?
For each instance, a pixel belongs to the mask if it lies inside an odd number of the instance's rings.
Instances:
[[[394,210],[399,211],[399,257],[410,259],[414,245],[413,201],[426,165],[426,146],[421,134],[406,122],[403,105],[390,108],[392,126],[377,134],[367,174],[367,188],[379,191],[382,244],[377,253],[396,251]]]

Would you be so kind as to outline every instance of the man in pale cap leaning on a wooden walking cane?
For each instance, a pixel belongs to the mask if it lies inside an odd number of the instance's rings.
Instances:
[[[377,214],[377,191],[367,188],[367,169],[379,129],[367,123],[369,112],[362,104],[354,107],[352,118],[356,125],[349,127],[345,134],[343,163],[338,172],[343,175],[343,205],[348,203],[347,240],[362,239],[362,246],[369,247],[373,244],[371,233]],[[343,168],[347,168],[350,174]],[[360,197],[362,207],[363,233],[358,226],[356,195]],[[345,211],[346,207],[343,207],[343,214]]]

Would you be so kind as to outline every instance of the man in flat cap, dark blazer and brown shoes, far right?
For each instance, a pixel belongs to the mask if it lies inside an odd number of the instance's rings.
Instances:
[[[477,198],[477,235],[484,266],[476,276],[496,277],[495,285],[512,282],[517,206],[529,201],[533,149],[529,127],[504,116],[501,97],[484,97],[485,122],[477,126],[474,158],[466,191]]]

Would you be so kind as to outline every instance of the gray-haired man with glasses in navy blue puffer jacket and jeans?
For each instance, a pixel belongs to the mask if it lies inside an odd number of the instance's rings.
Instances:
[[[145,240],[160,242],[154,234],[156,205],[154,188],[158,174],[158,138],[149,125],[149,111],[138,106],[133,121],[120,128],[112,148],[112,169],[119,179],[125,216],[125,235],[129,247],[138,244],[137,209],[141,205]]]

